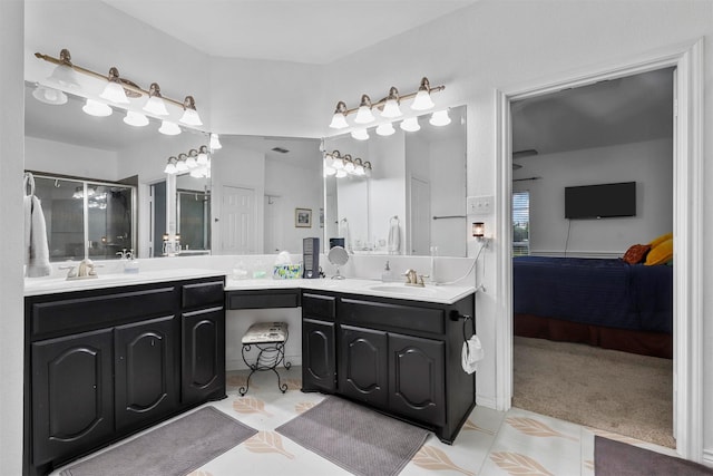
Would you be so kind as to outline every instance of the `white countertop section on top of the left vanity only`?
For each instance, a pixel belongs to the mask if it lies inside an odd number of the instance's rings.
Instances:
[[[99,274],[98,278],[82,280],[67,280],[66,278],[26,278],[25,295],[55,294],[60,292],[224,275],[225,272],[217,270],[182,268],[177,270],[139,271],[138,273]]]

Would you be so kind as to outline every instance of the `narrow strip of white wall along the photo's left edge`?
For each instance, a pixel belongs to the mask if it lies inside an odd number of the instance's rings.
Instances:
[[[22,169],[25,84],[22,81],[22,1],[0,1],[0,45],[3,58],[0,90],[7,95],[0,110],[0,467],[22,474]]]

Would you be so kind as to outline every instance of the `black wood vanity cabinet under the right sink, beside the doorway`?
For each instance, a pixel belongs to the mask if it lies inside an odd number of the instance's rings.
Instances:
[[[364,402],[450,444],[476,405],[475,375],[460,366],[461,317],[472,312],[473,295],[439,304],[303,292],[302,389]],[[328,368],[336,388],[321,385]]]

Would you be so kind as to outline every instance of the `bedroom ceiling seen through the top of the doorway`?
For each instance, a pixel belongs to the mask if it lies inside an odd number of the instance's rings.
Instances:
[[[673,68],[514,101],[511,113],[516,165],[537,155],[670,138]]]

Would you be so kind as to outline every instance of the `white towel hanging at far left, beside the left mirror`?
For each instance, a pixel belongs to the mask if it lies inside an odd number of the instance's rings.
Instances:
[[[25,264],[27,276],[46,276],[52,271],[49,264],[47,224],[40,200],[35,195],[25,196]]]

